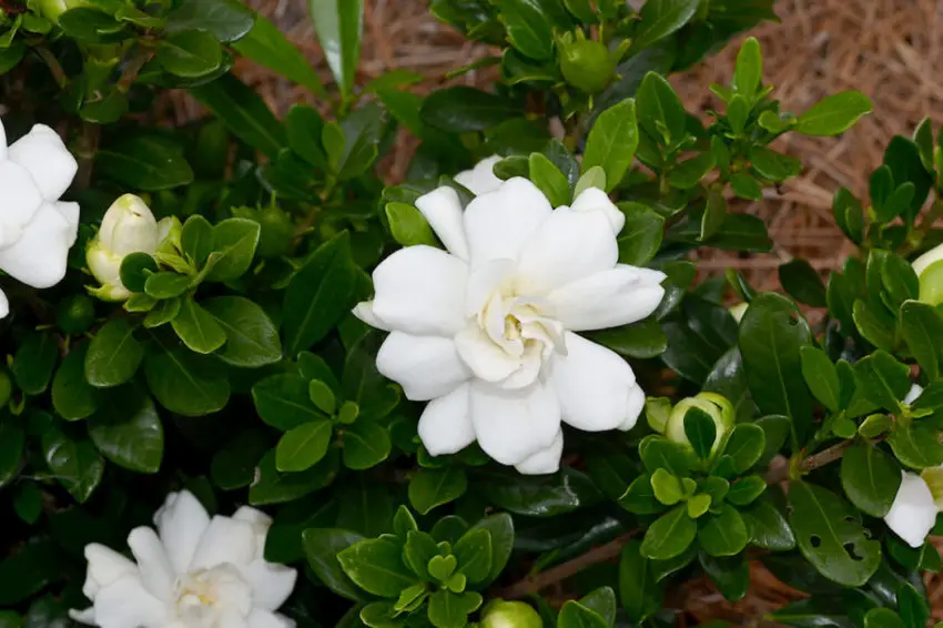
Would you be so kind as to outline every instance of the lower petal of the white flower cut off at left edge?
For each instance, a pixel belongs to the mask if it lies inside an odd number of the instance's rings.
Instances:
[[[0,270],[27,285],[51,287],[65,276],[72,237],[70,224],[55,205],[43,203],[20,239],[0,250]]]

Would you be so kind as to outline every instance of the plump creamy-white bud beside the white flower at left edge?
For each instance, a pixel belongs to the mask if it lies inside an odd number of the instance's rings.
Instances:
[[[179,222],[178,222],[179,223]],[[172,222],[166,223],[170,231]],[[103,301],[123,301],[131,292],[121,283],[121,262],[131,253],[153,255],[161,230],[140,197],[124,194],[104,214],[98,235],[89,242],[85,262],[101,287],[90,290]]]

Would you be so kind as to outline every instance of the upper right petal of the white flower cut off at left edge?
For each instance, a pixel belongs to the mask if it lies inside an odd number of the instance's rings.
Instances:
[[[58,201],[79,171],[79,162],[65,148],[59,134],[45,124],[13,142],[8,151],[10,161],[26,168],[47,201]]]

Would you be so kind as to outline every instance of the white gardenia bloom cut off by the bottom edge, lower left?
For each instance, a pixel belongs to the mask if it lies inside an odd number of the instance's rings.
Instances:
[[[294,569],[266,563],[272,519],[243,506],[212,519],[187,490],[171,493],[153,528],[131,530],[134,561],[85,546],[82,592],[92,601],[72,619],[101,628],[293,628],[275,610],[295,586]]]

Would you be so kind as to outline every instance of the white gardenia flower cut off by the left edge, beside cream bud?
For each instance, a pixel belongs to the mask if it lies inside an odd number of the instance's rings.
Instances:
[[[44,124],[7,146],[0,123],[0,271],[32,287],[65,276],[69,249],[79,233],[79,204],[59,200],[79,164]],[[0,318],[9,312],[0,291]]]

